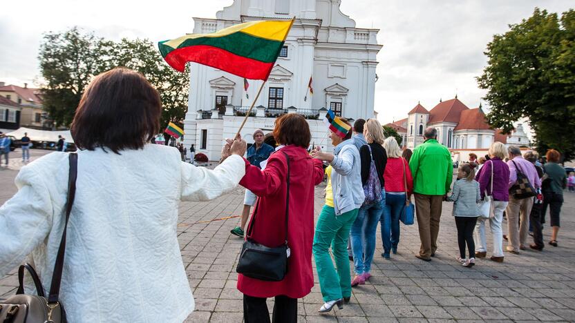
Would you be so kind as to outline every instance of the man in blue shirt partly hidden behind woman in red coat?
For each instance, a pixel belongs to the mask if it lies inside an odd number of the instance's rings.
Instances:
[[[252,164],[258,168],[261,168],[260,163],[267,158],[274,152],[274,147],[265,144],[263,142],[264,135],[261,129],[256,129],[254,131],[254,144],[247,148],[247,161],[249,164]],[[256,203],[256,195],[252,193],[250,190],[245,190],[245,196],[243,199],[243,211],[240,226],[236,226],[232,231],[232,235],[237,235],[238,237],[243,237],[244,232],[243,228],[245,227],[245,223],[247,222],[247,218],[249,217],[249,208],[254,206]]]

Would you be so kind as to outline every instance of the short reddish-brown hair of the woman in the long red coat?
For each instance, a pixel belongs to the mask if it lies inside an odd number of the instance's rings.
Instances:
[[[276,127],[272,135],[278,144],[296,145],[305,149],[310,146],[312,138],[308,121],[296,113],[288,113],[276,119]]]

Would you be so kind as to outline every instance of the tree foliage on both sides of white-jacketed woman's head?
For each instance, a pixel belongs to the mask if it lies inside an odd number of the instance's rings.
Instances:
[[[182,125],[187,112],[188,73],[173,70],[148,39],[109,41],[78,28],[48,32],[40,46],[44,108],[57,125],[69,126],[84,89],[96,75],[124,66],[136,70],[162,99],[162,120]]]

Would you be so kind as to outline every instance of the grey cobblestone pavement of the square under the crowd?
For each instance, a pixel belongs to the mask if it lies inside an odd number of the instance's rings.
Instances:
[[[15,193],[16,174],[17,170],[0,170],[1,203]],[[316,189],[316,216],[323,206],[322,189]],[[213,202],[180,204],[178,240],[196,300],[196,311],[186,322],[242,321],[242,295],[236,290],[235,272],[242,240],[229,234],[238,219],[198,223],[239,215],[242,201],[243,190],[238,188]],[[565,193],[557,248],[547,245],[543,252],[506,253],[501,264],[478,260],[469,269],[455,261],[455,222],[451,204],[444,203],[439,249],[432,262],[414,257],[420,246],[417,224],[402,225],[399,254],[391,260],[380,256],[378,231],[370,282],[353,288],[351,303],[343,310],[327,315],[317,313],[323,301],[315,284],[312,293],[299,300],[299,321],[575,322],[574,213],[575,194]],[[548,227],[544,234],[548,241]],[[3,277],[0,298],[15,293],[16,286],[14,272]],[[268,306],[271,311],[272,300]]]

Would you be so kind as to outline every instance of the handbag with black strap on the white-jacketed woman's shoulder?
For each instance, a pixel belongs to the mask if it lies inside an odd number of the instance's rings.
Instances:
[[[50,295],[44,295],[44,288],[40,279],[30,264],[22,264],[18,268],[19,287],[16,295],[8,300],[0,302],[0,322],[4,323],[66,323],[66,311],[59,302],[60,282],[62,282],[62,269],[64,267],[64,253],[66,253],[66,229],[70,211],[74,204],[76,194],[76,177],[78,169],[78,155],[70,153],[70,171],[68,173],[68,199],[66,202],[66,224],[60,240],[52,284],[50,284]],[[38,295],[24,294],[24,269],[26,269],[36,286]]]

